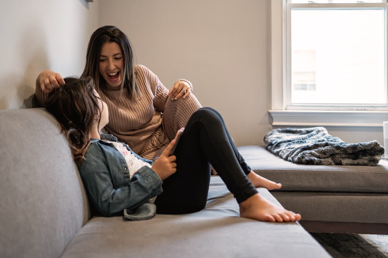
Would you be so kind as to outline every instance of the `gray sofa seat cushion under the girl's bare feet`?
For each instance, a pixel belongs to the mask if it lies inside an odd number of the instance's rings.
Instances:
[[[280,205],[267,190],[258,190]],[[94,217],[61,257],[330,257],[296,222],[238,216],[236,200],[215,176],[204,210],[142,221]]]

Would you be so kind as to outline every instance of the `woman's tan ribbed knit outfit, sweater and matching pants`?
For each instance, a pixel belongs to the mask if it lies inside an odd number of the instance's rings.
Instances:
[[[168,89],[151,70],[136,65],[134,71],[141,97],[129,99],[119,87],[108,86],[106,94],[99,91],[109,109],[105,128],[141,157],[155,159],[201,104],[193,94],[171,101]],[[35,94],[39,105],[44,106],[47,95],[38,81]]]

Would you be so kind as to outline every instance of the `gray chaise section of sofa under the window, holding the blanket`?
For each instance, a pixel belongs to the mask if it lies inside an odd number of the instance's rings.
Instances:
[[[309,232],[388,234],[388,161],[376,166],[316,166],[285,161],[264,146],[239,151],[253,171],[282,183],[271,191],[302,215]]]

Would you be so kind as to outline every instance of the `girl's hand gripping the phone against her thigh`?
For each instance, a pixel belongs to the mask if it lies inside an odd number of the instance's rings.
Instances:
[[[170,155],[171,149],[175,144],[175,139],[167,145],[166,149],[163,150],[162,155],[154,162],[152,169],[158,174],[159,178],[164,180],[177,172],[177,163],[175,155]]]

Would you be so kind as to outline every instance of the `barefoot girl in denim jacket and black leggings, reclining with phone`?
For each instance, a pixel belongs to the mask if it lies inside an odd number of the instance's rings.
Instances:
[[[49,95],[47,110],[61,124],[90,201],[106,217],[134,210],[156,197],[156,212],[185,214],[206,205],[213,165],[240,207],[240,216],[272,222],[297,221],[300,214],[265,200],[255,187],[280,184],[258,176],[244,162],[221,115],[212,108],[194,112],[176,139],[151,161],[112,135],[100,135],[109,121],[107,105],[92,79],[65,78]],[[211,164],[211,165],[210,165]]]

